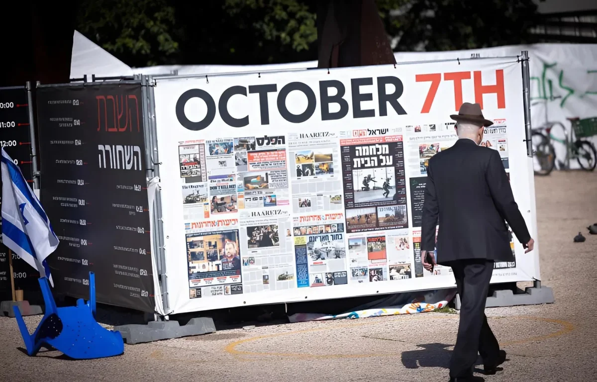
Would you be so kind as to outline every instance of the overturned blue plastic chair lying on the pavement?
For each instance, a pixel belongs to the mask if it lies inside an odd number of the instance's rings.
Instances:
[[[104,328],[95,319],[96,283],[93,272],[89,273],[89,300],[85,302],[79,298],[76,306],[57,308],[47,278],[39,278],[39,286],[44,295],[45,314],[32,335],[29,335],[19,307],[13,307],[28,355],[35,356],[41,347],[48,346],[73,359],[105,358],[124,353],[120,332]]]

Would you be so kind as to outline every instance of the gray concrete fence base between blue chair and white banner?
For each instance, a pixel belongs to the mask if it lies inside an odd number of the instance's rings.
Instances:
[[[114,326],[127,344],[139,344],[170,338],[187,337],[216,332],[213,319],[199,317],[191,319],[186,325],[180,326],[178,321],[151,321],[147,325],[119,325]]]

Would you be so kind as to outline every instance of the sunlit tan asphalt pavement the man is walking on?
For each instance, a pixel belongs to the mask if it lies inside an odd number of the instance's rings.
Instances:
[[[585,227],[597,223],[597,172],[554,171],[535,184],[541,278],[556,303],[487,309],[509,361],[485,380],[592,381],[597,235]],[[574,244],[579,231],[587,240]],[[30,328],[38,321],[27,318]],[[0,381],[447,381],[457,325],[457,314],[420,313],[257,326],[70,361],[55,351],[28,357],[14,319],[0,318]]]

